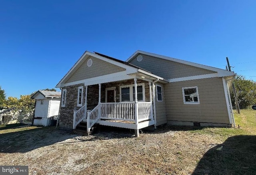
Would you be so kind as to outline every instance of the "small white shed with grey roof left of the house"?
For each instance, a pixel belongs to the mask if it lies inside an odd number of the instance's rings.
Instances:
[[[58,116],[61,92],[39,90],[32,99],[36,100],[34,125],[49,126]]]

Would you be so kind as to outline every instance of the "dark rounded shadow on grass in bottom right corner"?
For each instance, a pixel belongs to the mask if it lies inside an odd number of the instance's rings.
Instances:
[[[255,175],[256,135],[229,137],[207,151],[192,175]]]

